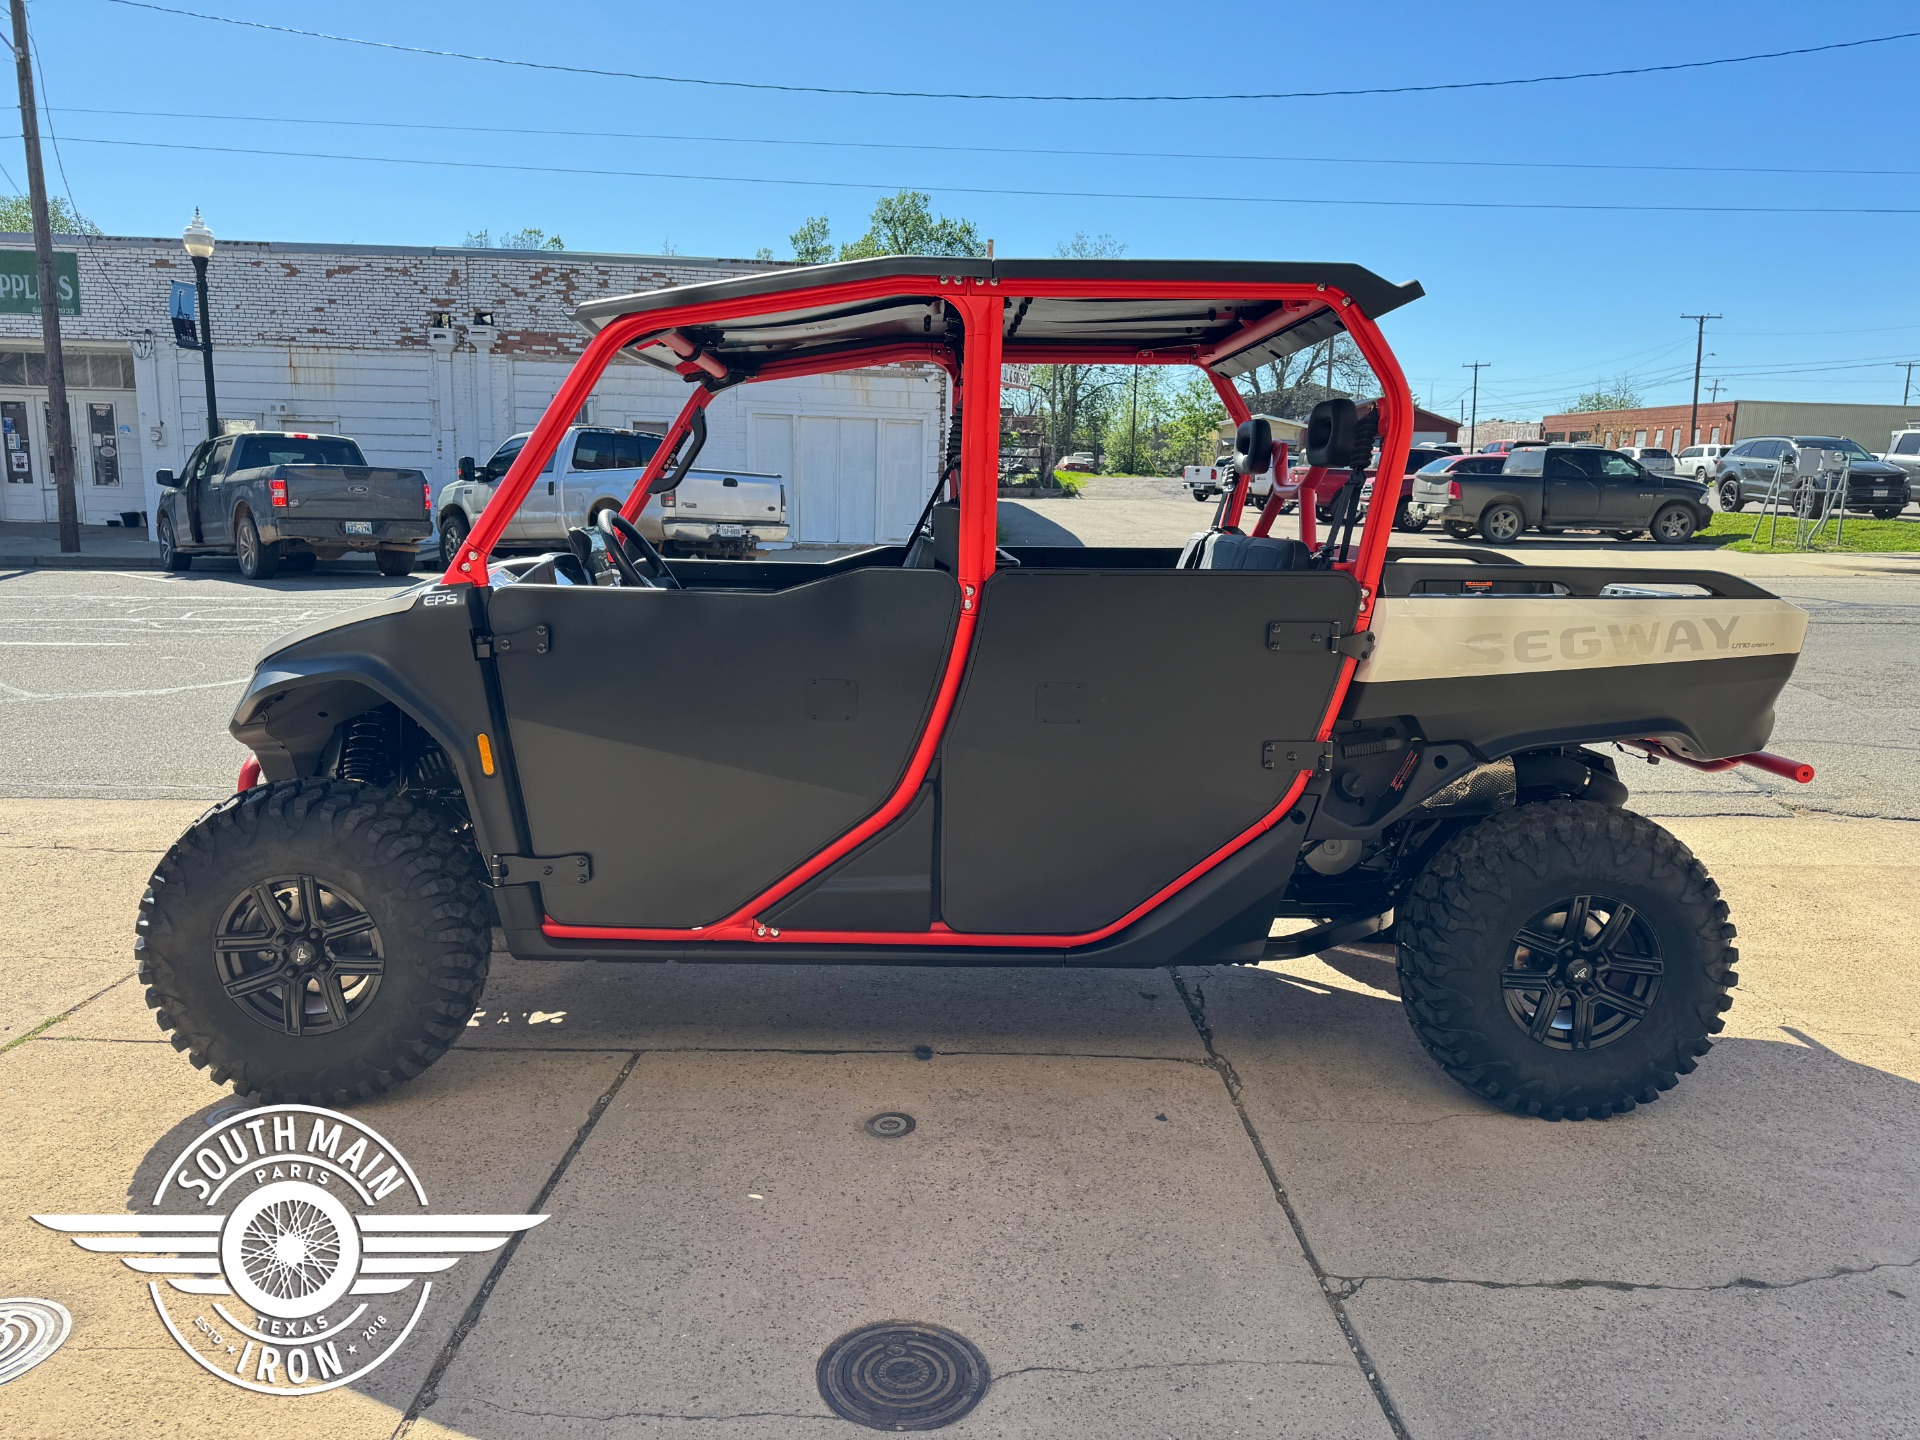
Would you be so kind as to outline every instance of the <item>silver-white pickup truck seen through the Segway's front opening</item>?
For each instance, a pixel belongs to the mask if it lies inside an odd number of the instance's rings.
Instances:
[[[528,432],[532,434],[532,432]],[[486,465],[461,459],[461,476],[440,492],[440,557],[451,564],[467,532],[493,497],[528,434],[507,440]],[[647,430],[572,426],[501,538],[505,549],[564,549],[566,532],[626,503],[660,447]],[[639,532],[666,555],[745,559],[756,545],[787,538],[787,488],[778,474],[687,470],[678,490],[655,495]]]

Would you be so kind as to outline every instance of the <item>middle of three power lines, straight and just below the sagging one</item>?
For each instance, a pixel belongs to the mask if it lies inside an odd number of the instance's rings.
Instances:
[[[1822,169],[1805,165],[1605,165],[1572,159],[1396,159],[1382,156],[1244,156],[1206,150],[1062,150],[1048,146],[941,146],[904,140],[799,140],[770,134],[668,134],[651,131],[547,131],[520,125],[444,125],[434,121],[367,121],[311,115],[215,115],[190,109],[102,109],[63,106],[63,115],[125,115],[131,119],[188,119],[248,125],[340,125],[361,131],[428,131],[445,134],[526,134],[547,140],[670,140],[685,144],[791,146],[806,150],[908,150],[937,156],[1060,156],[1066,159],[1208,159],[1231,165],[1400,165],[1503,171],[1620,171],[1628,175],[1814,175],[1910,179],[1920,169]],[[1920,328],[1920,326],[1910,326]]]

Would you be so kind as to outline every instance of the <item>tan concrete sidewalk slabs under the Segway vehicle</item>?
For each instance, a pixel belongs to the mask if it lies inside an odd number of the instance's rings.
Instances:
[[[198,808],[0,801],[0,1292],[75,1317],[0,1386],[8,1436],[851,1438],[814,1361],[879,1319],[987,1356],[956,1436],[1920,1428],[1912,826],[1668,822],[1741,987],[1699,1071],[1605,1123],[1453,1087],[1380,948],[1177,975],[497,954],[467,1041],[355,1112],[436,1208],[551,1219],[492,1281],[436,1277],[392,1365],[294,1402],[198,1371],[138,1277],[25,1219],[146,1208],[225,1098],[129,960]],[[876,1140],[883,1110],[918,1127]]]

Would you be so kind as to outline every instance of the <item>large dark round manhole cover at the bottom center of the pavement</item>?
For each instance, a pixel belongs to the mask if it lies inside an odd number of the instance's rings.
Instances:
[[[845,1421],[870,1430],[937,1430],[973,1409],[993,1375],[962,1334],[883,1321],[829,1344],[818,1380],[820,1398]]]

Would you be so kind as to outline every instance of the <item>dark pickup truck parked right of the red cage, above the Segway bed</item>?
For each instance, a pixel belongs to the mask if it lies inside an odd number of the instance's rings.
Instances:
[[[1588,445],[1515,449],[1500,474],[1417,474],[1411,505],[1455,540],[1478,532],[1496,545],[1526,530],[1611,530],[1620,540],[1651,532],[1680,545],[1713,520],[1707,486]]]

